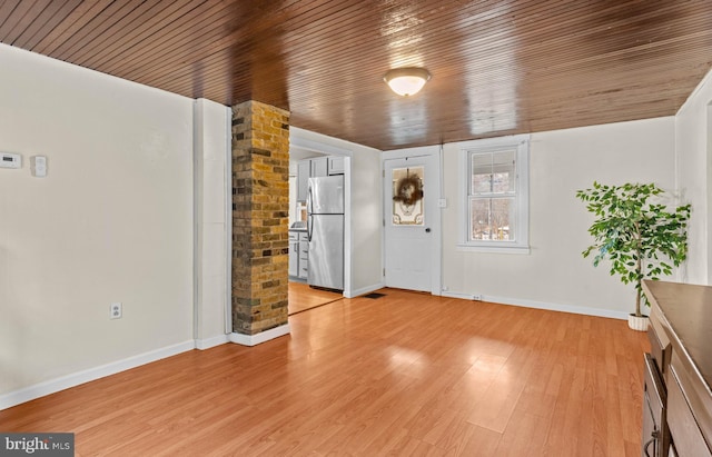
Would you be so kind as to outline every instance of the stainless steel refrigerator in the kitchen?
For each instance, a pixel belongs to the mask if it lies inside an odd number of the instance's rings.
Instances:
[[[310,286],[344,290],[344,177],[309,178],[307,234]]]

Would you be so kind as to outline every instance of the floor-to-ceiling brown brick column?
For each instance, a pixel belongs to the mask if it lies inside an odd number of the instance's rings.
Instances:
[[[233,331],[287,324],[289,112],[233,107]]]

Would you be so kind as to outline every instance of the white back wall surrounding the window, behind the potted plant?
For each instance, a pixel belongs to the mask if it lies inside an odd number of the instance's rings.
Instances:
[[[445,197],[457,201],[458,150],[444,151]],[[533,133],[530,156],[531,255],[455,248],[457,205],[443,211],[443,285],[492,301],[624,318],[633,289],[594,268],[581,251],[593,218],[575,191],[603,183],[654,181],[674,190],[674,119],[659,118]],[[449,228],[449,229],[448,229]]]

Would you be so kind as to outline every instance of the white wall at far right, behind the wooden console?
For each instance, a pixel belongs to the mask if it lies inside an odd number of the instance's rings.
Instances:
[[[712,284],[710,205],[712,203],[712,72],[700,82],[675,116],[678,186],[684,202],[692,203],[690,254],[682,280]]]

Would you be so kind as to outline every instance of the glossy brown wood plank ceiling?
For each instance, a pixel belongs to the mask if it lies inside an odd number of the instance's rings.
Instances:
[[[712,1],[3,0],[0,41],[388,150],[672,116]],[[400,98],[406,66],[433,78]]]

